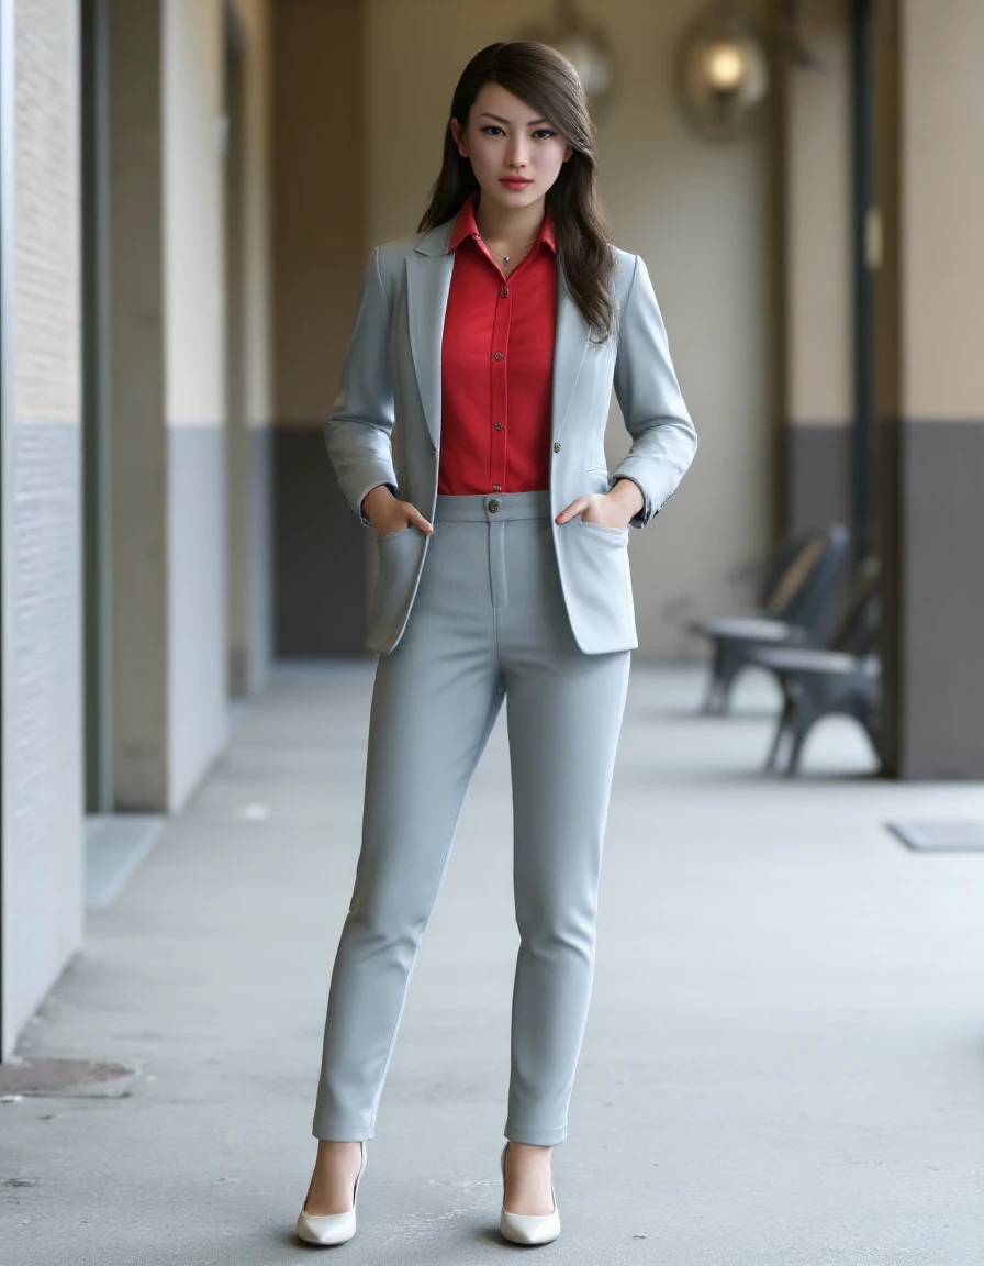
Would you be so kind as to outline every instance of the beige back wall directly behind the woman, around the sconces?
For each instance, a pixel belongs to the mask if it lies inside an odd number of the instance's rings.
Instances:
[[[550,8],[366,0],[362,265],[373,243],[415,232],[468,58]],[[596,6],[621,67],[617,100],[600,124],[602,191],[616,243],[649,265],[701,438],[679,492],[632,539],[639,653],[650,657],[701,652],[667,618],[669,608],[732,608],[753,596],[736,572],[766,547],[774,503],[769,139],[713,146],[682,123],[672,99],[675,42],[702,8]],[[611,457],[626,446],[616,413]]]

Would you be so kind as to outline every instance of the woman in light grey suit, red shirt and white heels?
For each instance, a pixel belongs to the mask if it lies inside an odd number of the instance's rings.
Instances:
[[[632,447],[610,476],[612,385]],[[637,646],[629,525],[659,511],[697,439],[645,265],[607,242],[583,90],[545,44],[465,67],[420,230],[369,261],[325,430],[377,537],[381,658],[297,1233],[354,1234],[416,951],[506,699],[521,943],[500,1225],[546,1243]]]

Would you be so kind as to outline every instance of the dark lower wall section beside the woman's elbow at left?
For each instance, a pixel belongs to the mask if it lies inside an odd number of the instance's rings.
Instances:
[[[339,491],[320,427],[273,432],[278,656],[366,655],[366,532]]]

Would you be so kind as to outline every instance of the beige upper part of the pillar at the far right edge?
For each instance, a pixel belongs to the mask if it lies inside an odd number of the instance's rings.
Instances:
[[[980,0],[901,13],[902,413],[984,417]]]

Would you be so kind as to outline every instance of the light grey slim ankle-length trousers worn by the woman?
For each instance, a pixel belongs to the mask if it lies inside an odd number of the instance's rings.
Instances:
[[[505,1134],[549,1146],[567,1137],[591,996],[630,652],[578,649],[548,492],[439,496],[434,519],[410,622],[376,671],[362,849],[331,974],[314,1134],[373,1137],[417,947],[505,698],[520,932]]]

